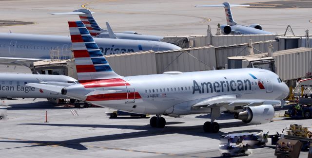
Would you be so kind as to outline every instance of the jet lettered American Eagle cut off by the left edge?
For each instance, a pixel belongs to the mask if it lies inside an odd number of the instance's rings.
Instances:
[[[68,98],[61,93],[25,86],[28,83],[45,83],[62,85],[77,84],[78,81],[64,75],[45,75],[27,73],[0,73],[0,99],[12,98]],[[58,83],[54,83],[58,82]]]

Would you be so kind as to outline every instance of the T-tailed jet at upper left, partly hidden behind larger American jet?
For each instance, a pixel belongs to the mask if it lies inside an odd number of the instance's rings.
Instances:
[[[121,33],[114,33],[109,23],[106,22],[107,30],[102,29],[95,18],[93,18],[92,14],[94,12],[90,12],[88,9],[78,9],[73,12],[67,13],[51,13],[52,15],[78,15],[80,20],[84,23],[86,28],[89,30],[90,34],[93,37],[98,38],[117,38],[117,39],[137,39],[137,40],[151,40],[151,41],[160,41],[164,37],[156,36],[156,35],[141,35],[134,31],[124,31]],[[109,32],[115,34],[115,37],[112,37]]]

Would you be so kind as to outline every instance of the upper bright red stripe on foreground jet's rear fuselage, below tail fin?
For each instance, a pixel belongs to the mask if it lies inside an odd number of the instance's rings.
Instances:
[[[125,85],[130,86],[129,83],[127,83],[125,80],[121,78],[86,82],[86,83],[83,83],[82,85],[84,86],[84,88],[116,87],[116,86],[125,86]]]

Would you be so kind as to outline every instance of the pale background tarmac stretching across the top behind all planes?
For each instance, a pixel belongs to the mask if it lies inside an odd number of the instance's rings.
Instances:
[[[115,32],[137,31],[162,36],[206,35],[207,25],[210,25],[215,34],[217,24],[226,23],[224,9],[196,8],[194,5],[221,4],[224,1],[226,0],[1,0],[0,14],[4,15],[1,20],[35,24],[0,25],[0,32],[69,35],[67,21],[78,20],[78,16],[55,16],[49,13],[86,8],[95,12],[94,17],[103,28],[106,28],[105,21],[108,21]],[[295,35],[305,35],[304,31],[312,26],[312,0],[229,2],[252,5],[232,8],[234,20],[238,24],[249,26],[257,23],[264,30],[278,34],[284,34],[287,25],[291,25]]]

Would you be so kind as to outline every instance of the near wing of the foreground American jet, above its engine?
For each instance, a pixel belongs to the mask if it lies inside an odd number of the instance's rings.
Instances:
[[[280,100],[262,100],[262,99],[239,99],[235,94],[231,95],[221,95],[212,98],[208,98],[203,100],[193,107],[218,107],[218,106],[228,106],[228,107],[235,107],[235,106],[258,106],[258,105],[278,105],[281,104],[282,106],[285,104],[285,101]]]

